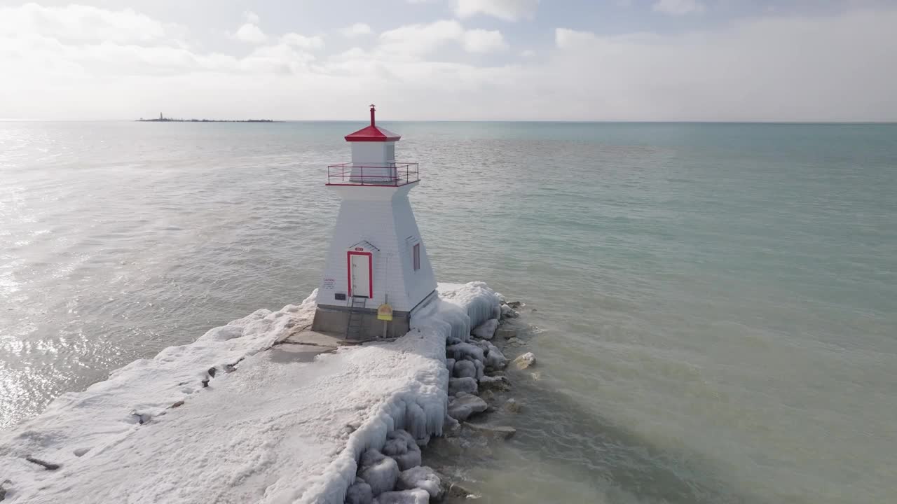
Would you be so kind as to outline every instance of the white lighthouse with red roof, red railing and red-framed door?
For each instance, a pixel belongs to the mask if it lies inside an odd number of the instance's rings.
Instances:
[[[401,136],[370,126],[345,140],[352,162],[327,167],[327,187],[343,198],[318,289],[312,330],[358,340],[405,335],[411,313],[436,297],[436,279],[408,193],[417,163],[396,162]],[[392,309],[392,319],[384,319]],[[378,318],[378,308],[381,309]]]

